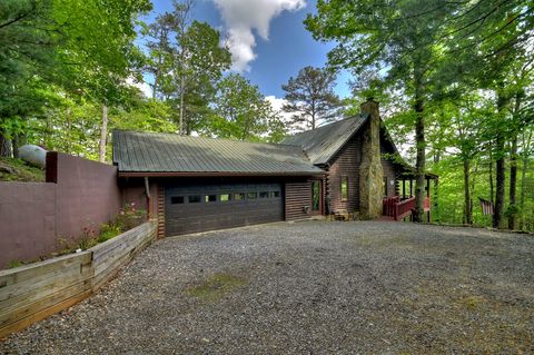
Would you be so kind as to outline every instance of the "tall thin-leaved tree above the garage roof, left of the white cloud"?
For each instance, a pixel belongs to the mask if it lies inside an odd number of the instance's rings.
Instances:
[[[220,47],[220,33],[208,23],[190,19],[194,0],[172,2],[172,11],[145,28],[149,56],[146,70],[154,76],[152,97],[176,112],[180,135],[202,130],[216,83],[231,63]]]

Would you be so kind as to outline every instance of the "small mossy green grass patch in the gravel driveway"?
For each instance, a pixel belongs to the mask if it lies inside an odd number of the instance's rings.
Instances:
[[[192,297],[216,302],[235,288],[246,284],[248,284],[248,280],[243,277],[221,273],[210,276],[198,286],[189,287],[186,293]]]

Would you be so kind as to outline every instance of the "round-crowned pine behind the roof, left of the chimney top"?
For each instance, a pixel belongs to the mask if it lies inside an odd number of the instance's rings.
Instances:
[[[334,92],[336,75],[328,69],[306,67],[281,88],[286,91],[283,110],[295,114],[291,125],[314,129],[319,121],[335,119],[342,101]]]

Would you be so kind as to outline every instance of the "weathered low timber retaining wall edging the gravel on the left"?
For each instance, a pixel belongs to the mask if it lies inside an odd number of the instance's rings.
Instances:
[[[0,272],[0,338],[72,306],[100,288],[156,238],[145,223],[86,252]]]

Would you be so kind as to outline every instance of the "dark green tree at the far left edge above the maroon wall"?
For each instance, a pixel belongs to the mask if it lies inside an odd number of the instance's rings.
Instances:
[[[42,79],[50,80],[56,53],[51,11],[51,0],[0,1],[0,156],[11,155],[10,139],[46,100]]]

